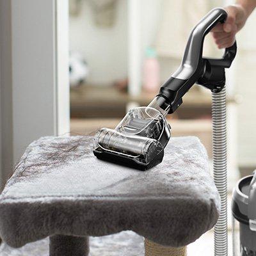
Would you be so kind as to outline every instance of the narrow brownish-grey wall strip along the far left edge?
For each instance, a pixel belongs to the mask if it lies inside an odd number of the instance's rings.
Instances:
[[[0,1],[0,51],[1,51],[1,180],[0,190],[13,165],[12,129],[12,40],[11,40],[11,2]]]

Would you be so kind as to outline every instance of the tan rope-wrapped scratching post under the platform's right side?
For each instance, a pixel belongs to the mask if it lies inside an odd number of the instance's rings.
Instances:
[[[186,256],[187,248],[184,247],[170,247],[154,243],[145,239],[145,256]]]

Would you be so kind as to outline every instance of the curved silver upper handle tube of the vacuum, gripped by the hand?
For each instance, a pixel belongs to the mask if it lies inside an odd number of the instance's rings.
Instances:
[[[193,75],[196,76],[196,72],[198,72],[198,77],[200,76],[200,73],[202,72],[202,52],[205,35],[207,35],[218,23],[225,22],[226,19],[227,12],[223,8],[214,8],[207,13],[200,22],[198,22],[189,35],[182,63],[172,77],[186,80]],[[236,47],[236,45],[234,45],[234,47]],[[229,56],[232,56],[232,54],[230,54],[230,49],[226,49],[225,61],[222,63],[227,62],[227,59],[230,59]]]

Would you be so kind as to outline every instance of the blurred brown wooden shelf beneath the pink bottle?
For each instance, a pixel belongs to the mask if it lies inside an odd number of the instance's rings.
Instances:
[[[70,90],[71,116],[75,118],[116,117],[124,116],[129,102],[147,106],[156,93],[141,92],[137,97],[120,92],[114,86],[81,85]],[[191,88],[183,97],[183,104],[177,114],[188,118],[191,113],[198,115],[211,114],[211,93],[204,93],[197,86]],[[186,110],[186,113],[185,113]],[[182,111],[184,113],[182,113]]]

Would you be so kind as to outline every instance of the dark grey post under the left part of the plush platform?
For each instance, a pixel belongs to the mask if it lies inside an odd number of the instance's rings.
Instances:
[[[88,256],[88,237],[55,235],[50,237],[50,256]]]

